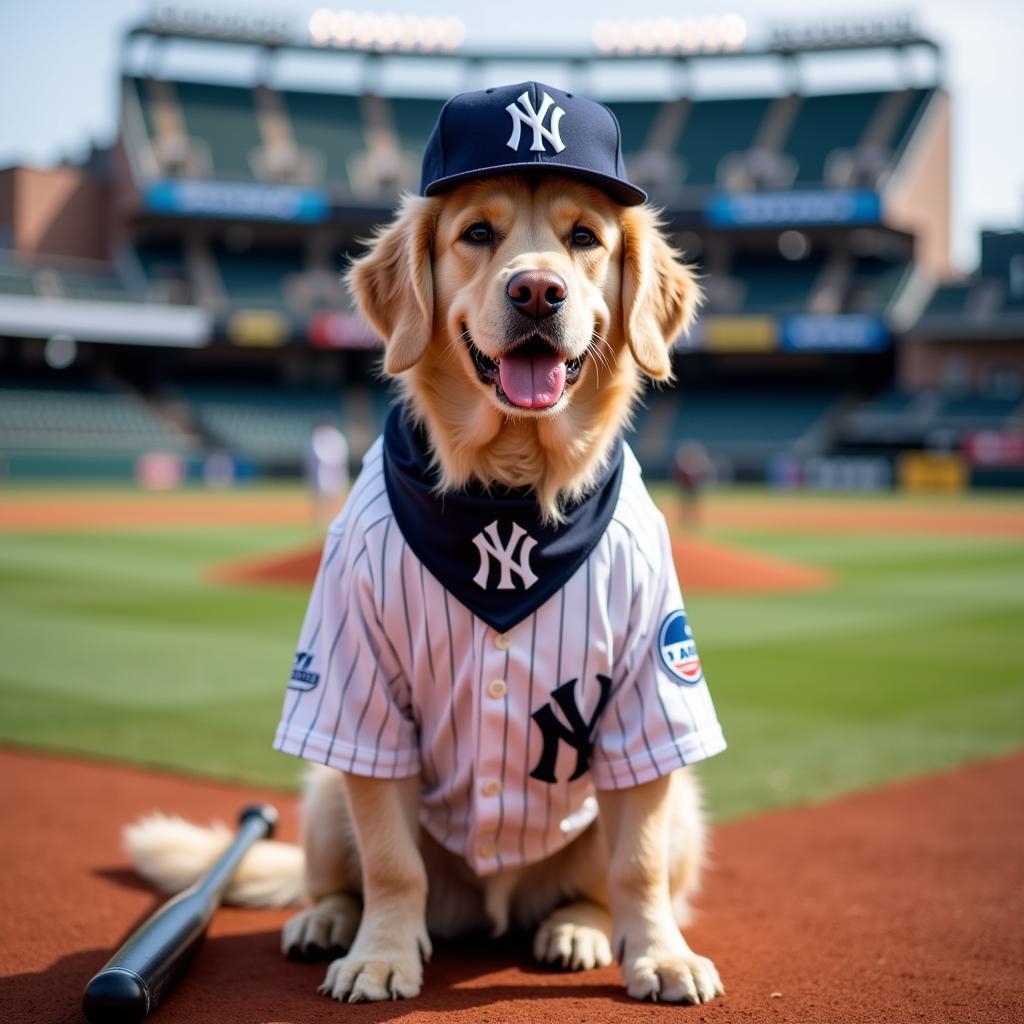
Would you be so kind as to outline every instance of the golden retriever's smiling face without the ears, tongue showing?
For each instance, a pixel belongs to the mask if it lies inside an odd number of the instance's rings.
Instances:
[[[500,412],[558,415],[587,359],[607,358],[622,242],[618,208],[573,181],[490,180],[441,206],[435,308]]]

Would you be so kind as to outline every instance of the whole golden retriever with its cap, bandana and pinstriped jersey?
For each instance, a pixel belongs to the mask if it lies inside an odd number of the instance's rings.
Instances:
[[[347,274],[401,402],[329,531],[275,739],[321,762],[302,851],[259,844],[227,895],[304,900],[283,949],[341,952],[337,999],[416,996],[432,938],[509,928],[542,963],[617,958],[637,999],[724,991],[680,931],[706,846],[688,765],[724,740],[622,441],[700,293],[608,118],[539,83],[457,97],[423,195]],[[474,124],[522,162],[479,132],[460,157]],[[165,890],[226,842],[159,816],[126,836]]]

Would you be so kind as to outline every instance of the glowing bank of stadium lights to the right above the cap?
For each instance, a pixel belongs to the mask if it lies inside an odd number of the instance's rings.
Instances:
[[[594,23],[594,46],[621,56],[735,52],[746,43],[746,22],[735,13],[706,17],[602,17]]]

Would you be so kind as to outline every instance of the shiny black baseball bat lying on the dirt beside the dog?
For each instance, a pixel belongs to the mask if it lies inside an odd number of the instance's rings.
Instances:
[[[227,884],[257,840],[273,835],[278,812],[253,804],[239,815],[231,845],[201,879],[147,918],[85,986],[89,1024],[141,1024],[196,955]]]

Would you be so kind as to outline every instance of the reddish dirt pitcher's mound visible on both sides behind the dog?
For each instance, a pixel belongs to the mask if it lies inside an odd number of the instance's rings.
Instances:
[[[831,579],[821,568],[698,537],[675,541],[673,554],[685,594],[813,590],[827,586]],[[319,557],[319,547],[279,552],[262,558],[215,565],[210,569],[209,577],[215,583],[231,586],[308,588],[316,578]]]

